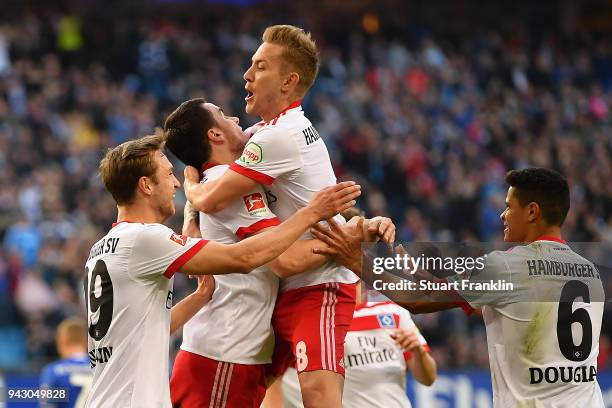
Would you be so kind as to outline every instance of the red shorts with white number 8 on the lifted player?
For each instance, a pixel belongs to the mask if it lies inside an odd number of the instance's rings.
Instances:
[[[353,320],[355,287],[330,282],[279,293],[268,377],[280,377],[291,364],[298,373],[328,370],[344,375],[344,338]]]

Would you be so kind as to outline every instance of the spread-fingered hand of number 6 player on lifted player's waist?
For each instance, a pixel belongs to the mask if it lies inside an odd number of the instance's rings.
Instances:
[[[333,219],[328,221],[329,228],[321,224],[313,226],[312,235],[327,244],[327,247],[314,248],[316,254],[329,255],[340,265],[361,275],[361,243],[363,242],[363,217],[356,225],[340,227]]]

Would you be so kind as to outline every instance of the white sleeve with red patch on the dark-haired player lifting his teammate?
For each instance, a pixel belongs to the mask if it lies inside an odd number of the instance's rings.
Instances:
[[[240,197],[234,204],[213,215],[227,229],[243,239],[264,228],[280,225],[280,220],[270,210],[266,193],[257,186]]]

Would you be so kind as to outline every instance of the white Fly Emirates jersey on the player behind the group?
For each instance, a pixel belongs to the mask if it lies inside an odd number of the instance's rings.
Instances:
[[[367,302],[355,308],[344,344],[343,407],[411,407],[406,395],[406,361],[412,356],[390,337],[397,328],[414,330],[429,351],[410,313],[395,303]],[[304,406],[295,369],[287,370],[281,385],[285,407]]]

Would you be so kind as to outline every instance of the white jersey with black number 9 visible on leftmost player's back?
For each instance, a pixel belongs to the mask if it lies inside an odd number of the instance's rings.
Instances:
[[[161,224],[120,222],[85,264],[87,407],[171,407],[168,380],[172,283],[207,241]]]

